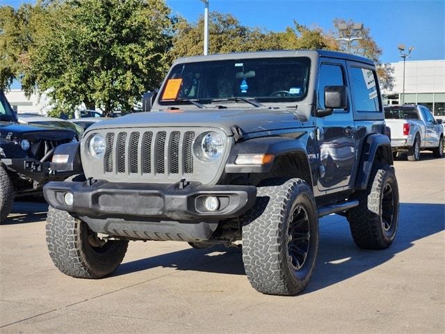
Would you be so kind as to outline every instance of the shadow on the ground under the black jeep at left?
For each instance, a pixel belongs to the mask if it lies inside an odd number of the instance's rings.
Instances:
[[[24,202],[15,200],[13,209],[1,225],[38,223],[47,218],[48,204],[44,201]]]

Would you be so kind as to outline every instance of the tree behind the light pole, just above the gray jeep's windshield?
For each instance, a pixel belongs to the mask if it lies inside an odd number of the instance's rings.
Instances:
[[[204,17],[200,17],[196,23],[179,18],[175,24],[170,59],[202,54],[203,31]],[[218,12],[209,15],[209,40],[209,54],[280,49],[275,33],[242,26],[232,15]]]

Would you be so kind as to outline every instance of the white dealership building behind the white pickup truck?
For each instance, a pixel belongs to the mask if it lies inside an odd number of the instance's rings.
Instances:
[[[394,88],[382,92],[384,102],[400,104],[403,95],[403,61],[391,65],[394,67]],[[404,103],[422,104],[435,116],[445,116],[445,60],[405,63]]]

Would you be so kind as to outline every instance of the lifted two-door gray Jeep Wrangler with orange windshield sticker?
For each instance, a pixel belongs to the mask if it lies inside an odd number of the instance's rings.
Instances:
[[[176,61],[145,109],[61,145],[49,182],[47,244],[77,278],[119,266],[130,240],[240,246],[264,294],[312,276],[318,218],[346,216],[360,248],[387,248],[399,198],[372,61],[268,51]]]

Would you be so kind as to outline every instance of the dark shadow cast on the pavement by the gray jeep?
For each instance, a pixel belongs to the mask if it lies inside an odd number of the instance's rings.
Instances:
[[[304,293],[323,289],[378,267],[397,253],[412,247],[414,241],[441,232],[445,229],[444,224],[444,204],[401,203],[394,244],[385,250],[361,250],[355,246],[345,218],[337,215],[324,217],[320,224],[321,241],[316,269]],[[126,262],[115,271],[115,276],[155,267],[245,275],[240,250],[215,246],[204,250],[190,248]]]

